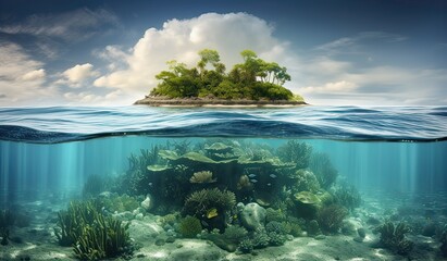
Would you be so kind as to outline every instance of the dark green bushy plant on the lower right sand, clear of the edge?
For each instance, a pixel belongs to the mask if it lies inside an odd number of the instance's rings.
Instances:
[[[390,221],[385,222],[376,228],[376,232],[381,233],[381,245],[402,256],[407,256],[414,245],[405,237],[405,234],[410,231],[410,227],[406,223],[399,222],[395,225]]]

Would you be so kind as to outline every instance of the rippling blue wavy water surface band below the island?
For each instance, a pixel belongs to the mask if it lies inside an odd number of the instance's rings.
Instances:
[[[446,117],[447,107],[0,108],[0,140],[54,144],[145,135],[436,141],[447,139]]]

